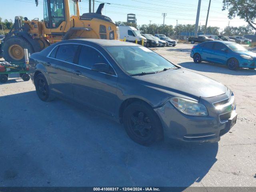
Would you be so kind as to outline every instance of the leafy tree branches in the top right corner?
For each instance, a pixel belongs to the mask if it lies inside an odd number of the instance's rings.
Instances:
[[[228,18],[232,19],[238,16],[256,30],[255,4],[255,0],[223,0],[222,10],[228,10]]]

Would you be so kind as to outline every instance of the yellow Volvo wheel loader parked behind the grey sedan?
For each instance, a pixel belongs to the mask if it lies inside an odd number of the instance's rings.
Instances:
[[[36,6],[38,5],[38,0]],[[102,15],[104,3],[96,13],[80,15],[81,0],[44,0],[44,19],[28,20],[15,17],[14,26],[0,44],[0,57],[8,62],[24,62],[24,48],[30,54],[39,52],[61,40],[96,38],[118,40],[118,27]]]

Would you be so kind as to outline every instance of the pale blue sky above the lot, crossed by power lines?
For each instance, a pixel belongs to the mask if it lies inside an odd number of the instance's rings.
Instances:
[[[126,14],[136,14],[137,24],[152,23],[162,24],[162,13],[167,13],[165,24],[194,24],[196,21],[196,11],[198,0],[96,0],[96,7],[100,2],[105,4],[103,14],[109,16],[114,21],[126,21]],[[36,7],[34,0],[0,0],[0,17],[14,20],[15,16],[26,16],[28,19],[43,18],[43,0],[39,0]],[[202,0],[199,23],[205,24],[209,0]],[[88,12],[88,0],[80,2],[80,11]],[[208,26],[218,26],[223,29],[228,25],[227,11],[222,11],[222,0],[212,0]],[[230,26],[247,25],[244,20],[235,18],[230,20]]]

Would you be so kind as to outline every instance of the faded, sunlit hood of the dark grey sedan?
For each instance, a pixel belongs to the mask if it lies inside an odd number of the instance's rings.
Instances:
[[[155,74],[133,76],[142,81],[144,86],[189,96],[199,100],[200,97],[213,97],[225,94],[228,90],[223,84],[183,68],[167,70]]]

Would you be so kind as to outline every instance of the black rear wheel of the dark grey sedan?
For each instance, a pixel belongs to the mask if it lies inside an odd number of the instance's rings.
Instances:
[[[54,97],[50,94],[48,83],[42,73],[35,77],[34,83],[36,86],[36,94],[42,101],[51,101],[54,99]]]

